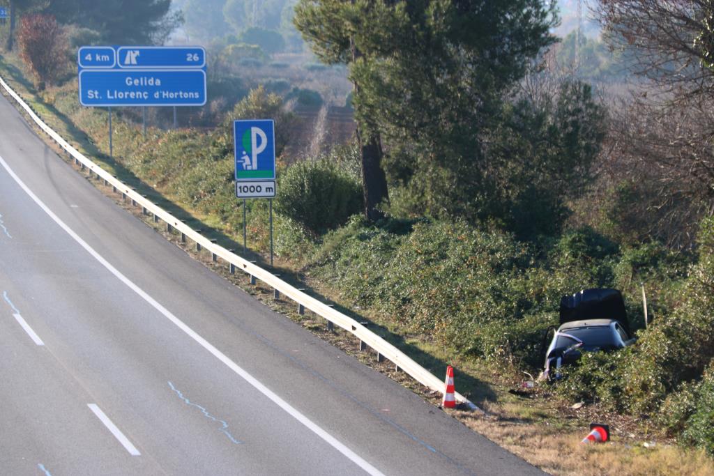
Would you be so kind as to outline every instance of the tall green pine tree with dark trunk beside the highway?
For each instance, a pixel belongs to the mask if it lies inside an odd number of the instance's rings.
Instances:
[[[488,193],[481,131],[555,41],[554,9],[541,0],[301,0],[295,24],[315,54],[350,67],[366,195],[386,197],[384,138],[390,178],[410,183],[427,213],[473,213]],[[378,201],[366,200],[368,215]]]

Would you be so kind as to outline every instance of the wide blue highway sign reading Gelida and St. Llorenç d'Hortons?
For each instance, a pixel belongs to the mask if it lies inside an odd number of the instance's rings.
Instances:
[[[84,46],[77,54],[82,106],[203,106],[201,47]]]

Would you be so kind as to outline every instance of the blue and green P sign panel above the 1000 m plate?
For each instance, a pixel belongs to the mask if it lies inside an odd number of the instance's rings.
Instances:
[[[236,181],[275,180],[275,123],[234,121]]]

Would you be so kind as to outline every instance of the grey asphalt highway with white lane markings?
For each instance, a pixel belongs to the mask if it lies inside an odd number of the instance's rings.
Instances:
[[[193,261],[0,97],[0,473],[542,474]]]

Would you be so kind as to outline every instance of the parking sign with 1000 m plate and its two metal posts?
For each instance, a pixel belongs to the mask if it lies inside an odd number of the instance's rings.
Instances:
[[[276,194],[275,123],[271,119],[234,121],[236,197],[243,198],[243,254],[246,199],[270,199],[270,263],[273,265],[273,198]]]

